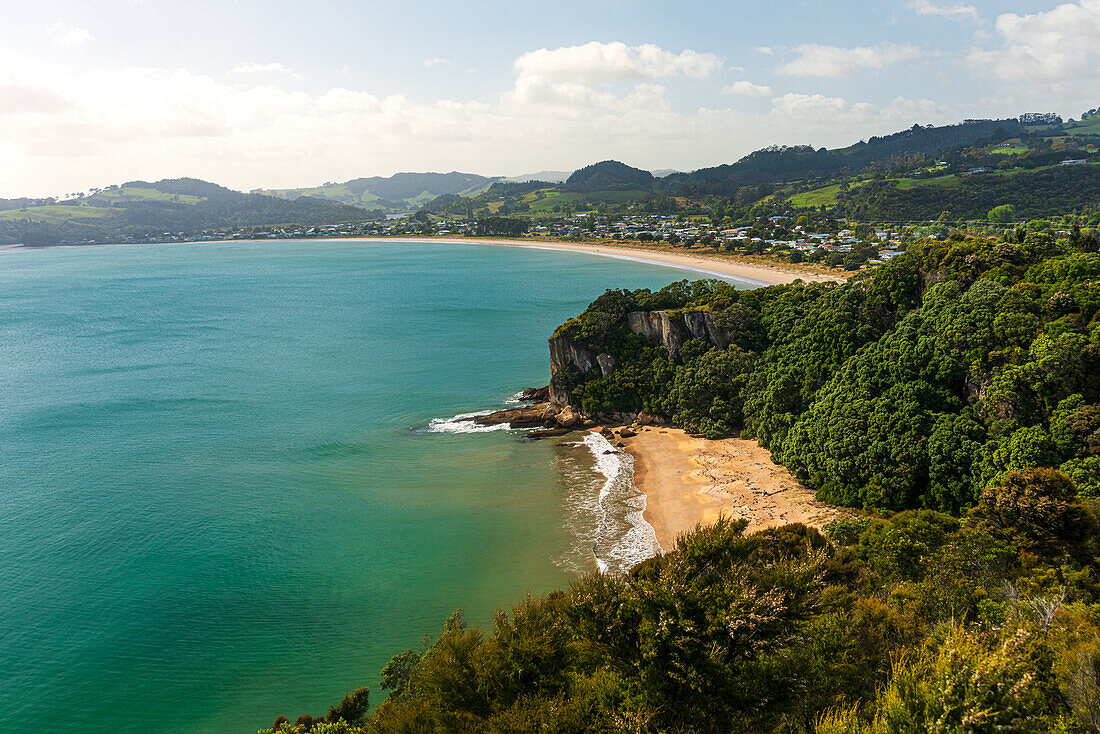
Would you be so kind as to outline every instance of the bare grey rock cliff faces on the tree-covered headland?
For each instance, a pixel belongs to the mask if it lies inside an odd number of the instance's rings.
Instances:
[[[691,339],[702,339],[719,349],[725,349],[734,341],[730,330],[721,325],[711,311],[632,311],[627,314],[626,322],[634,333],[651,344],[663,347],[669,360],[673,362],[680,361],[680,349]],[[598,366],[601,374],[606,377],[615,369],[615,360],[610,354],[594,354],[566,331],[550,337],[550,376],[566,366],[579,372]],[[558,407],[570,404],[568,392],[556,386],[553,380],[550,381],[550,402]]]

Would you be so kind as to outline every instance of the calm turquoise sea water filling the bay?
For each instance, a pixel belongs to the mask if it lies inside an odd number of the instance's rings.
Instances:
[[[454,609],[593,567],[570,449],[426,426],[544,384],[605,287],[684,275],[408,242],[0,253],[0,732],[377,702]]]

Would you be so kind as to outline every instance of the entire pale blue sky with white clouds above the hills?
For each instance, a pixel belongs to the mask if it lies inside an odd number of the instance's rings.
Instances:
[[[0,197],[732,163],[1100,106],[1100,0],[0,0]]]

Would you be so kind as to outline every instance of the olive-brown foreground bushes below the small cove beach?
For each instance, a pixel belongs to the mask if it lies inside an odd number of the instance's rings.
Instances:
[[[625,576],[529,595],[487,631],[457,613],[422,655],[387,666],[402,692],[363,722],[334,716],[341,703],[276,730],[1096,731],[1096,561],[1012,541],[1082,507],[1054,472],[1022,481],[965,519],[846,521],[831,529],[839,544],[723,518]],[[1092,547],[1094,523],[1079,529]]]

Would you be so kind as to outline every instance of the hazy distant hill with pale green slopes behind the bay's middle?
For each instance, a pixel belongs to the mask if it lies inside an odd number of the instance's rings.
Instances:
[[[398,173],[393,176],[353,178],[342,184],[328,183],[312,188],[256,189],[283,199],[309,196],[363,209],[415,209],[437,196],[473,196],[498,178],[459,173]]]

